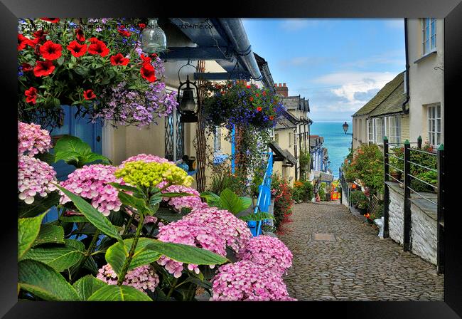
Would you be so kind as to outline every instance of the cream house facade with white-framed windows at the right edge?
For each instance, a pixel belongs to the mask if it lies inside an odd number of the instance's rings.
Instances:
[[[444,19],[406,19],[409,137],[444,143]]]

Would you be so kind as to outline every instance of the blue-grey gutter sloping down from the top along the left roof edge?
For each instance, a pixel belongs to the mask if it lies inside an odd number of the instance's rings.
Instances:
[[[227,37],[230,38],[237,56],[244,64],[245,68],[249,71],[250,76],[256,81],[262,80],[262,73],[260,73],[257,60],[255,60],[254,53],[252,52],[252,46],[250,46],[249,38],[247,38],[247,33],[245,32],[242,20],[220,18],[218,21],[220,21]]]

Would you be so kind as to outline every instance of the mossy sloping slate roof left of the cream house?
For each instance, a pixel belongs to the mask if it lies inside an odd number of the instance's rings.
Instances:
[[[360,115],[368,115],[372,112],[375,111],[376,115],[380,114],[387,114],[390,112],[387,112],[385,110],[394,110],[392,113],[399,112],[397,110],[397,105],[399,104],[401,95],[399,95],[399,89],[400,87],[402,88],[402,93],[404,93],[404,72],[399,73],[397,76],[394,77],[393,80],[391,80],[389,83],[385,84],[385,86],[380,89],[379,92],[374,96],[374,98],[370,99],[369,102],[367,102],[362,108],[360,108],[353,116],[360,116]],[[393,94],[394,93],[394,94]],[[404,96],[405,98],[405,96]],[[404,100],[401,100],[404,102]],[[376,109],[381,109],[381,110],[376,110]],[[402,104],[399,105],[399,108],[402,108]],[[382,113],[384,111],[387,113]]]

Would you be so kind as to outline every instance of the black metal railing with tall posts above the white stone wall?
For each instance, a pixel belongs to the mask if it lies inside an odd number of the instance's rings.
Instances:
[[[417,148],[411,147],[411,144],[417,144]],[[401,147],[403,156],[398,157],[396,154],[390,152],[390,145],[396,145],[395,147]],[[431,205],[436,207],[436,227],[437,227],[437,256],[436,256],[436,267],[438,273],[444,273],[444,145],[440,145],[437,152],[429,152],[421,149],[421,137],[418,142],[411,143],[406,140],[404,143],[390,143],[387,137],[384,137],[383,143],[384,150],[384,237],[389,236],[389,203],[390,203],[390,189],[387,182],[397,182],[402,185],[404,189],[404,209],[403,209],[403,249],[404,251],[412,250],[411,236],[411,193],[417,195],[417,197],[424,199]],[[424,164],[419,164],[415,160],[412,160],[414,154],[419,153],[427,158],[436,157],[436,168],[428,167]],[[401,161],[403,169],[400,169],[390,164],[390,158]],[[398,162],[399,163],[399,162]],[[400,180],[390,174],[390,167],[396,172],[401,172],[404,179]],[[419,167],[420,171],[423,172],[434,172],[437,174],[436,185],[424,181],[417,177],[417,174],[412,172],[417,171]],[[420,183],[430,187],[436,192],[436,202],[434,197],[429,197],[423,192],[418,192],[411,186],[412,179],[419,181]],[[416,187],[414,187],[416,188]],[[414,197],[415,198],[415,197]],[[433,200],[432,200],[433,199]]]

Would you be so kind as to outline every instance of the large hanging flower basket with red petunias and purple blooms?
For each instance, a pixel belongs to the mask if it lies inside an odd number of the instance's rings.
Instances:
[[[76,105],[77,116],[123,125],[149,125],[171,113],[176,93],[166,92],[156,53],[141,51],[138,22],[19,19],[20,120],[60,126],[62,105]]]

